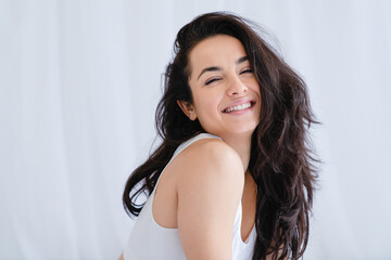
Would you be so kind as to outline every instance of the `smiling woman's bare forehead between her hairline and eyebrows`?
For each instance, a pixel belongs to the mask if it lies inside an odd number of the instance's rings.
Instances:
[[[197,73],[207,66],[235,63],[245,56],[243,44],[235,37],[217,35],[200,41],[189,53],[190,68]]]

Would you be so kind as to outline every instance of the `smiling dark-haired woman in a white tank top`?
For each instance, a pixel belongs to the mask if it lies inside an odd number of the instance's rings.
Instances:
[[[163,143],[123,196],[138,216],[124,258],[300,258],[315,182],[302,79],[227,13],[179,30],[165,76]]]

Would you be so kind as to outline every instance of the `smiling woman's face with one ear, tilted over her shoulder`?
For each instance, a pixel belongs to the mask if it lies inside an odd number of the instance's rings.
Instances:
[[[220,138],[252,133],[260,122],[261,93],[242,43],[226,35],[199,42],[189,53],[193,103],[179,102],[191,119]]]

